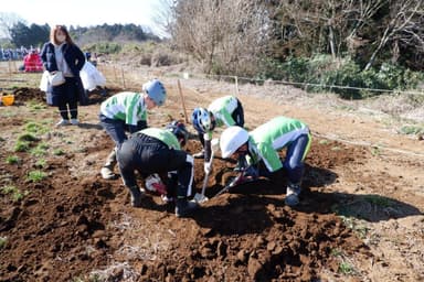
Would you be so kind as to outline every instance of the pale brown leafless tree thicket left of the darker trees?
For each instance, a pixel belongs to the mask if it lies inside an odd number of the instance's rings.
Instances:
[[[181,0],[173,17],[173,42],[206,72],[255,73],[268,40],[267,11],[257,1]]]

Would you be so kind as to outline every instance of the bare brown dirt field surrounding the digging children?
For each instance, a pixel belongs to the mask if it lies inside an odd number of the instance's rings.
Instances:
[[[184,119],[176,80],[166,86],[151,127]],[[189,112],[227,94],[183,91]],[[372,116],[241,94],[250,129],[278,115],[309,124],[301,203],[285,206],[284,186],[266,180],[213,197],[234,166],[216,158],[212,198],[179,219],[153,194],[131,208],[121,181],[99,176],[113,143],[97,93],[80,107],[82,123],[63,128],[43,93],[14,93],[15,105],[0,107],[0,281],[424,280],[424,141]],[[199,148],[193,138],[187,150]],[[203,177],[197,160],[198,192]]]

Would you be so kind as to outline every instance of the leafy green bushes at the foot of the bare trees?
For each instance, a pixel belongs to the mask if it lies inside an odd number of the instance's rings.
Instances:
[[[332,91],[346,99],[360,99],[380,95],[382,91],[352,88],[413,89],[424,79],[424,74],[391,63],[363,72],[361,66],[349,57],[333,61],[329,55],[317,54],[310,58],[289,57],[283,63],[266,58],[263,61],[259,77],[312,84],[303,88],[308,91]]]

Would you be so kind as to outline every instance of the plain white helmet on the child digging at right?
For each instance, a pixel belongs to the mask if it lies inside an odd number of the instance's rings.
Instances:
[[[229,127],[221,134],[220,148],[222,158],[231,156],[248,140],[247,130],[241,127]]]

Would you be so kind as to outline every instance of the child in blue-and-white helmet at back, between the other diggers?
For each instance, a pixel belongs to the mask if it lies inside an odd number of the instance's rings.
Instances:
[[[197,159],[204,158],[204,172],[211,171],[211,140],[216,127],[244,126],[244,111],[241,101],[234,96],[224,96],[212,101],[208,109],[195,108],[191,115],[191,122],[198,131],[203,149],[193,154]]]

